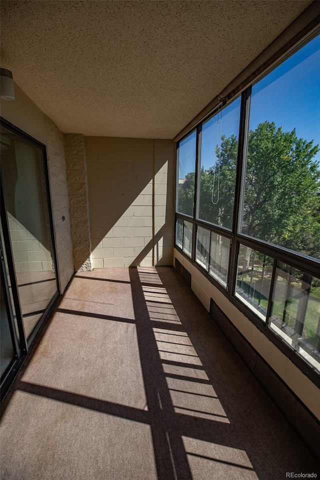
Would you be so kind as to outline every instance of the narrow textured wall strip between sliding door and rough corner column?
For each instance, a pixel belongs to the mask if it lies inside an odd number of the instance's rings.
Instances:
[[[62,293],[74,271],[64,138],[63,133],[46,115],[44,124],[58,276]]]

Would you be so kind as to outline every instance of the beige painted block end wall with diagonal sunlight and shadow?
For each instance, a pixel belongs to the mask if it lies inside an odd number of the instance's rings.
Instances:
[[[171,265],[172,140],[85,137],[94,268]]]

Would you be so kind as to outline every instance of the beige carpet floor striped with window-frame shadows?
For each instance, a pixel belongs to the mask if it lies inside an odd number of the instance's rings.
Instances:
[[[172,267],[76,273],[1,420],[1,480],[319,470]]]

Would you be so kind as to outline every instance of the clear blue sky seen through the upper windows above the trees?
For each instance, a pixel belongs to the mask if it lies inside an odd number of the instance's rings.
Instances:
[[[238,135],[239,97],[222,110],[222,134]],[[249,128],[274,121],[284,131],[296,130],[298,137],[320,145],[320,35],[291,55],[252,86]],[[217,116],[202,126],[201,165],[215,162]],[[218,132],[220,125],[218,125]],[[179,178],[194,171],[195,133],[180,143]],[[320,152],[316,160],[320,161]],[[193,166],[192,166],[193,165]],[[320,168],[320,166],[319,166]]]

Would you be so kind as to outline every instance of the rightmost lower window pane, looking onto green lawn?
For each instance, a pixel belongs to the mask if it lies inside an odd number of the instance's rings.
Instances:
[[[270,328],[320,371],[320,278],[280,263]]]

